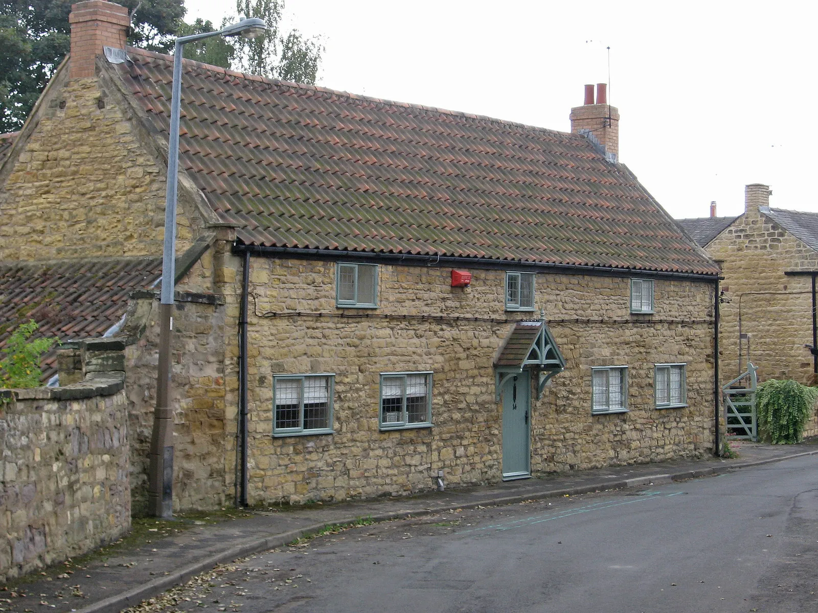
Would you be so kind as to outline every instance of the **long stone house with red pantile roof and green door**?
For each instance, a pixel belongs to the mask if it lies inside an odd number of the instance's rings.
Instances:
[[[52,329],[81,339],[64,330],[87,315],[124,365],[138,510],[172,58],[106,54],[124,15],[74,5],[71,56],[7,150],[0,266],[22,272],[0,294],[108,266]],[[558,132],[186,60],[176,507],[712,453],[718,267],[618,162],[604,85],[585,102]],[[45,310],[63,292],[41,277]],[[61,383],[98,367],[69,345]]]

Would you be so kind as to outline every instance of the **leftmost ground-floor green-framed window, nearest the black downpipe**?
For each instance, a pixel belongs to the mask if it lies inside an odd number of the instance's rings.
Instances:
[[[335,374],[274,374],[272,436],[333,434]]]

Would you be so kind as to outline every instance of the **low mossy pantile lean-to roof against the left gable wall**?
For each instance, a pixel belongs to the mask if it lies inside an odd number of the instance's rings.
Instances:
[[[162,275],[161,257],[0,262],[0,350],[28,320],[38,336],[101,337],[128,307],[128,294]],[[43,381],[56,374],[56,351],[43,356]]]

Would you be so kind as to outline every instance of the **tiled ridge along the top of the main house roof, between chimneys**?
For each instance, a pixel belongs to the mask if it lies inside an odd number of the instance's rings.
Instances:
[[[165,60],[173,64],[173,56],[166,55],[164,53],[159,53],[157,51],[148,51],[147,49],[142,49],[139,47],[127,47],[126,51],[128,53],[136,53],[137,55],[153,57],[157,60]],[[437,106],[427,106],[427,105],[419,105],[414,104],[411,102],[401,102],[395,100],[389,100],[387,98],[376,98],[375,96],[366,96],[363,94],[355,94],[351,92],[343,92],[337,89],[331,89],[330,87],[321,87],[319,85],[309,85],[307,83],[294,83],[293,81],[282,81],[281,79],[277,78],[267,78],[267,77],[260,77],[257,74],[248,74],[242,73],[237,70],[231,70],[222,68],[221,66],[215,66],[212,64],[205,64],[204,62],[196,61],[196,60],[189,60],[187,58],[182,59],[183,65],[190,65],[195,68],[209,70],[210,72],[216,74],[224,74],[225,76],[229,77],[236,77],[236,78],[243,78],[248,81],[255,81],[257,83],[266,83],[267,85],[284,85],[287,87],[296,87],[298,89],[303,89],[308,92],[322,92],[333,94],[335,96],[344,96],[349,98],[353,101],[366,101],[366,102],[374,102],[375,104],[382,104],[382,105],[389,105],[389,106],[398,106],[405,109],[416,109],[422,110],[429,113],[442,113],[447,115],[452,115],[453,117],[463,117],[466,119],[479,119],[482,121],[488,121],[491,123],[498,123],[501,125],[506,126],[514,126],[515,128],[523,128],[524,130],[536,130],[537,132],[545,132],[548,134],[560,134],[561,136],[567,136],[573,139],[582,139],[582,141],[587,141],[590,144],[590,141],[587,140],[585,136],[581,134],[576,134],[573,132],[563,132],[561,130],[552,130],[550,128],[541,128],[540,126],[534,126],[528,123],[520,123],[515,121],[510,121],[508,119],[498,119],[496,117],[490,117],[489,115],[479,115],[474,113],[466,113],[465,111],[461,110],[449,110],[443,109]]]

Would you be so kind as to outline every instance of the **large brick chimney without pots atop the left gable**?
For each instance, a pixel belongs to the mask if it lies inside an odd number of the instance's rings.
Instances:
[[[128,9],[107,0],[87,0],[71,5],[70,78],[93,77],[94,61],[102,47],[125,48]]]

